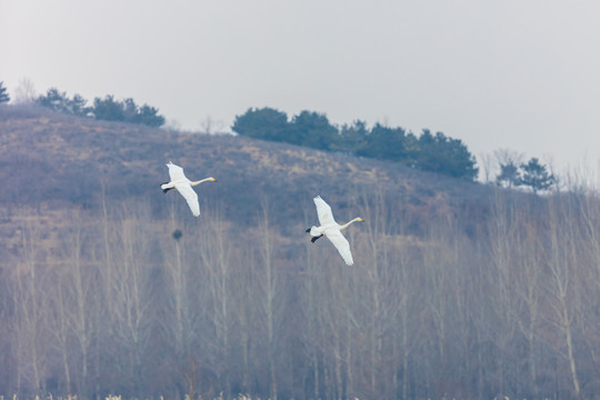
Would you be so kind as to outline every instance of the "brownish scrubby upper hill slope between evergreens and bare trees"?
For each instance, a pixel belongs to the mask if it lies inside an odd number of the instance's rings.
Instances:
[[[291,144],[231,136],[180,134],[139,124],[94,121],[48,110],[0,108],[0,204],[40,203],[96,209],[102,196],[139,197],[160,214],[167,161],[191,179],[213,176],[199,187],[201,206],[220,203],[240,223],[253,221],[268,199],[276,223],[302,221],[311,198],[336,204],[340,219],[357,197],[374,191],[399,210],[427,216],[448,208],[480,209],[488,189],[399,166]],[[208,183],[207,183],[208,184]],[[172,196],[174,193],[168,193]],[[309,214],[313,217],[312,214]]]

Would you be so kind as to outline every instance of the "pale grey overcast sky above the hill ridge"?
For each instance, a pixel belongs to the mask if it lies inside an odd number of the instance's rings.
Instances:
[[[190,130],[272,107],[600,159],[596,0],[0,0],[0,80],[23,79]]]

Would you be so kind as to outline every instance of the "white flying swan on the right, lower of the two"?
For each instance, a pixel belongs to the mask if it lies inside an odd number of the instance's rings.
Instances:
[[[314,206],[317,206],[317,214],[319,216],[321,226],[307,229],[307,232],[312,237],[310,241],[314,243],[317,239],[324,234],[338,249],[343,261],[346,261],[348,266],[352,266],[354,261],[352,260],[352,253],[350,252],[350,243],[346,240],[341,231],[350,227],[353,222],[362,222],[363,219],[358,217],[341,226],[333,219],[331,207],[329,207],[320,196],[317,196],[312,200],[314,201]]]

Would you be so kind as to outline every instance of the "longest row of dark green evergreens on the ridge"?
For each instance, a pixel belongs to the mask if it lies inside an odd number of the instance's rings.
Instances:
[[[236,117],[232,130],[257,139],[400,162],[470,181],[479,172],[474,156],[461,140],[428,129],[416,136],[381,123],[369,129],[360,120],[336,127],[324,113],[301,111],[290,120],[286,112],[272,108],[250,108]]]

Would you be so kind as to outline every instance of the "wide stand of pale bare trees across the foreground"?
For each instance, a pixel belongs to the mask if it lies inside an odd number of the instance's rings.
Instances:
[[[43,216],[21,216],[14,264],[1,270],[0,393],[598,392],[591,192],[497,188],[477,218],[443,204],[421,218],[396,192],[357,190],[347,201],[366,222],[348,232],[352,268],[327,242],[286,234],[267,199],[243,229],[218,203],[198,223],[179,200],[161,218],[137,199],[63,210],[71,223],[53,251],[42,244]],[[312,211],[282,223],[303,232]]]

